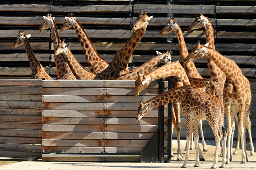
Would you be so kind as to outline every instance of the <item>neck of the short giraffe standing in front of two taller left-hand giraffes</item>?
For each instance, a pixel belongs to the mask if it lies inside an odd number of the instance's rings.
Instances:
[[[65,57],[72,73],[76,79],[90,79],[92,80],[95,77],[95,74],[84,69],[84,67],[76,60],[74,55],[69,49],[66,49],[65,53],[62,53]]]

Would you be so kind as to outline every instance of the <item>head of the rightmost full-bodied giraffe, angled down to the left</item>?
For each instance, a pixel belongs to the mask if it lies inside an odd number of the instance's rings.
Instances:
[[[204,46],[200,45],[200,40],[197,42],[196,46],[192,47],[192,50],[190,51],[189,55],[184,59],[184,63],[188,63],[191,60],[200,59],[204,56],[208,55],[208,46],[209,42],[206,43]]]

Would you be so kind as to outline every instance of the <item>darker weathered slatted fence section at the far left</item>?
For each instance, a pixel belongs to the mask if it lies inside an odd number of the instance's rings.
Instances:
[[[0,157],[42,152],[42,80],[0,79]]]

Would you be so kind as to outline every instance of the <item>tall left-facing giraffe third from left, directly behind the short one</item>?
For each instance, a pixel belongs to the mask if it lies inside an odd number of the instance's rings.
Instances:
[[[69,14],[69,16],[65,17],[65,19],[65,23],[62,25],[60,31],[64,31],[65,29],[69,29],[71,27],[74,28],[82,45],[85,60],[90,71],[96,75],[106,69],[109,65],[108,62],[95,50],[92,41],[84,31],[83,26],[75,19],[74,14]]]

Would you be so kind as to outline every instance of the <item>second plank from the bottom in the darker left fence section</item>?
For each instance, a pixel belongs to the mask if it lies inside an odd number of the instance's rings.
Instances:
[[[37,144],[2,144],[0,143],[1,151],[25,151],[25,152],[42,152],[42,145]],[[1,152],[0,151],[0,152]]]

